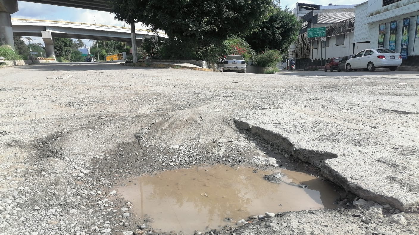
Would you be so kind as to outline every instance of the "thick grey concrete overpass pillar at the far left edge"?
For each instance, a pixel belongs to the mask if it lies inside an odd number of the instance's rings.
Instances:
[[[18,10],[17,0],[0,0],[0,45],[7,44],[15,49],[10,15]]]

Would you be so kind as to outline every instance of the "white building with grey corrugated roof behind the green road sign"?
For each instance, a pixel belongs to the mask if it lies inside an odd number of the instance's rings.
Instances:
[[[313,5],[297,3],[294,14],[302,20],[295,43],[297,69],[323,66],[327,59],[353,54],[354,16],[356,5]],[[326,42],[308,38],[309,28],[326,27]]]

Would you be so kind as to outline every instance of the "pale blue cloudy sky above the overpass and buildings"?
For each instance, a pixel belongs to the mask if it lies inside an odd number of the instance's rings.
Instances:
[[[282,7],[288,6],[290,9],[295,8],[296,3],[311,3],[318,5],[328,5],[333,3],[334,5],[345,5],[345,4],[360,4],[365,0],[283,0],[281,1]],[[68,8],[55,5],[29,3],[18,1],[19,11],[12,15],[12,18],[23,18],[23,19],[38,19],[38,20],[61,20],[71,21],[80,23],[96,23],[111,26],[124,26],[124,22],[114,19],[114,15],[96,10],[86,10],[79,8]],[[136,28],[145,28],[140,23]],[[35,39],[34,43],[44,43],[39,37],[32,37]],[[85,44],[89,46],[88,40],[83,40]]]

